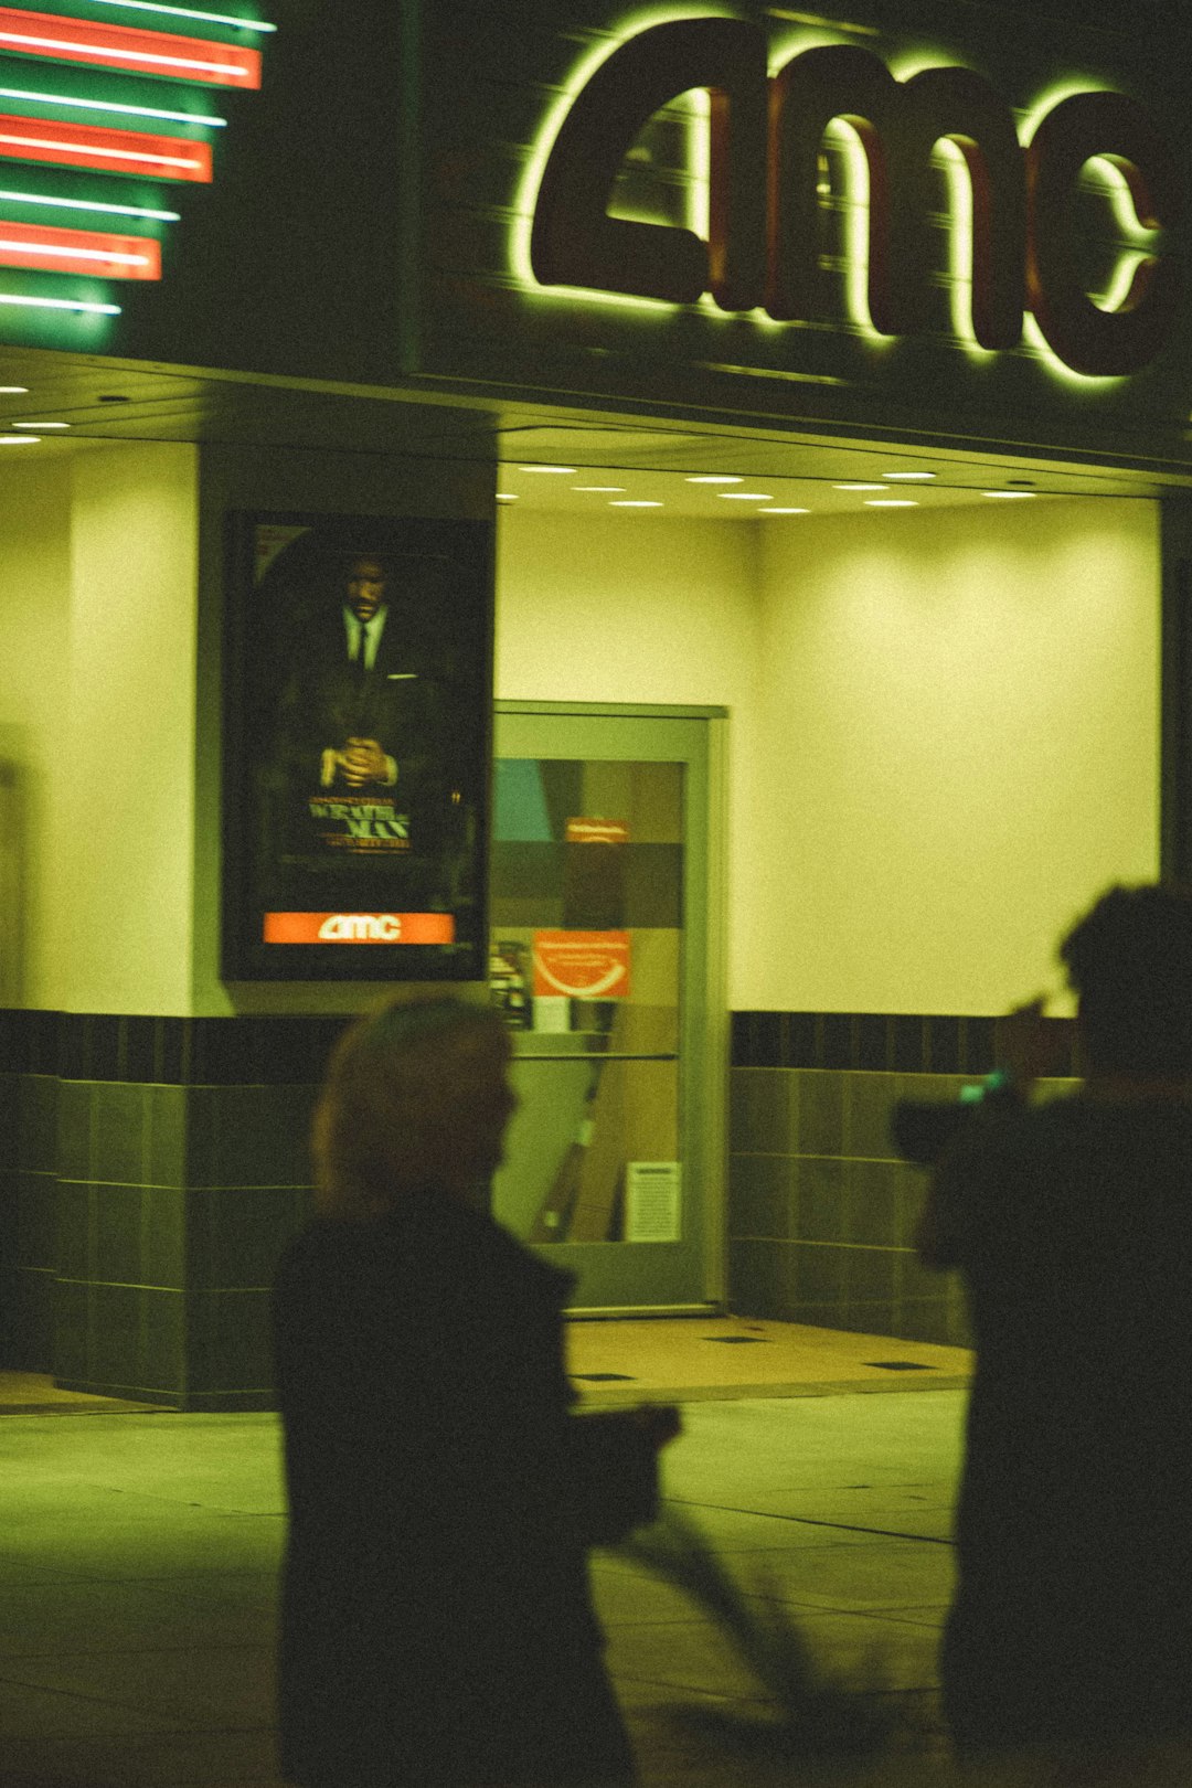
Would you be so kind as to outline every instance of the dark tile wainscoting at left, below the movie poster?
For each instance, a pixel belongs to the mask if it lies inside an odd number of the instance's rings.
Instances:
[[[0,1012],[0,1362],[270,1407],[270,1282],[341,1025]]]

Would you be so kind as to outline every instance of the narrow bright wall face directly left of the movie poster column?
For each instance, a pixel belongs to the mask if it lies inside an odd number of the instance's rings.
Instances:
[[[184,1014],[191,1010],[197,451],[147,443],[80,452],[73,499],[68,738],[71,805],[88,824],[88,849],[63,910],[68,1005]]]

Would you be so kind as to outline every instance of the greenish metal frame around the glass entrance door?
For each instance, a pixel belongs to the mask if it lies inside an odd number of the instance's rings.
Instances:
[[[518,701],[493,703],[497,719],[583,717],[609,721],[702,721],[706,726],[706,801],[695,812],[693,835],[684,842],[688,871],[704,862],[702,898],[688,899],[684,910],[684,989],[681,1025],[681,1060],[690,1098],[688,1135],[684,1137],[684,1173],[702,1184],[701,1198],[701,1300],[665,1305],[572,1307],[570,1316],[652,1316],[702,1314],[724,1309],[727,1300],[727,1087],[729,1087],[729,1012],[726,980],[726,815],[729,710],[688,703],[625,701]],[[493,746],[493,760],[497,756]],[[688,919],[690,915],[690,919]],[[693,923],[690,923],[693,921]],[[692,1114],[699,1112],[699,1121]]]

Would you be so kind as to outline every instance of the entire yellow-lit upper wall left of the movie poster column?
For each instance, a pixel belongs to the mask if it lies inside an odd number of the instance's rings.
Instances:
[[[195,449],[5,465],[0,526],[0,749],[29,792],[18,998],[186,1014]]]

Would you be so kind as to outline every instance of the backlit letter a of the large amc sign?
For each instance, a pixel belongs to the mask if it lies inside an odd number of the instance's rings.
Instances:
[[[711,95],[711,229],[608,215],[634,138],[659,107]],[[731,18],[690,18],[631,38],[568,111],[538,188],[529,257],[543,286],[588,286],[670,304],[711,290],[752,309],[765,281],[767,38]]]

